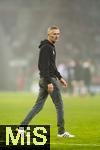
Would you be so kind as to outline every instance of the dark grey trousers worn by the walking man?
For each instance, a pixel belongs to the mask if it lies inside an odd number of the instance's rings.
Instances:
[[[64,130],[64,111],[63,111],[63,101],[60,94],[59,84],[56,78],[51,78],[52,84],[54,86],[54,90],[50,93],[52,101],[55,105],[56,112],[57,112],[57,126],[58,126],[58,133],[63,133]],[[43,108],[44,103],[48,96],[47,91],[47,83],[45,82],[44,78],[40,78],[39,81],[39,95],[35,105],[33,106],[32,110],[28,113],[25,119],[22,121],[21,125],[28,125],[31,119]]]

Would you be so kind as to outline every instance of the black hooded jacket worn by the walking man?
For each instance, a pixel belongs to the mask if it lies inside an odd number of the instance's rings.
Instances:
[[[43,77],[48,84],[51,83],[52,77],[57,77],[60,80],[62,76],[58,72],[55,63],[56,51],[54,44],[46,39],[41,41],[39,48],[38,68],[40,71],[40,77]]]

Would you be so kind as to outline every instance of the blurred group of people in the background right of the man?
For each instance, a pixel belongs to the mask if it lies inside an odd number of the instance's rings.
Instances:
[[[91,60],[81,62],[79,60],[70,60],[67,64],[59,64],[58,70],[68,82],[67,90],[64,92],[76,95],[94,95],[96,93],[95,82],[93,75],[95,73],[95,66]],[[97,85],[97,84],[96,84]],[[95,90],[94,90],[95,89]]]

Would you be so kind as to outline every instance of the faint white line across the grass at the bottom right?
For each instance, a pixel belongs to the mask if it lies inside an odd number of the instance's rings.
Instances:
[[[100,144],[80,144],[80,143],[50,143],[51,145],[68,145],[68,146],[94,146],[100,147]]]

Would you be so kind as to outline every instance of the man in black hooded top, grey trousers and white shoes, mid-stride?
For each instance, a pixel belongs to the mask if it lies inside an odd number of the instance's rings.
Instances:
[[[48,94],[50,94],[57,112],[58,137],[74,137],[64,129],[64,110],[63,101],[60,94],[58,80],[67,87],[66,81],[57,70],[55,59],[55,42],[60,36],[60,30],[57,26],[51,26],[47,31],[48,38],[41,41],[39,48],[38,68],[40,71],[39,95],[35,105],[29,114],[22,121],[21,125],[28,125],[31,119],[42,109]]]

